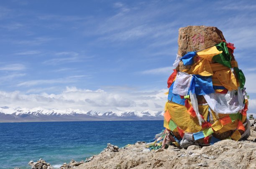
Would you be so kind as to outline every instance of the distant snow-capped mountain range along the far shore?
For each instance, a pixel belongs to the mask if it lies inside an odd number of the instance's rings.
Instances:
[[[84,111],[81,109],[44,109],[36,107],[0,107],[0,122],[41,122],[41,121],[108,121],[108,120],[163,120],[164,112],[153,110],[109,112]]]

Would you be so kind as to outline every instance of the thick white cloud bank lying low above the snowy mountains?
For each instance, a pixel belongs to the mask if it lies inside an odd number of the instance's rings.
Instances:
[[[162,111],[167,100],[166,90],[145,92],[107,92],[102,89],[88,90],[67,87],[59,94],[24,94],[19,91],[0,91],[1,106],[46,109],[82,109],[123,111],[151,109]]]

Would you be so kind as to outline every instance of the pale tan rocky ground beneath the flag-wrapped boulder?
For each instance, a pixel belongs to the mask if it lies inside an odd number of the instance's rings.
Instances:
[[[145,143],[136,143],[118,152],[102,151],[92,161],[76,169],[255,169],[255,127],[251,127],[251,133],[245,141],[227,139],[211,146],[192,145],[187,149],[169,146],[168,149],[143,152]]]

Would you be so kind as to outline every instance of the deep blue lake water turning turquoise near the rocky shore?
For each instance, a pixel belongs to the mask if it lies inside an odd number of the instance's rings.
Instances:
[[[107,143],[123,147],[154,139],[163,121],[0,123],[0,168],[31,168],[40,158],[58,166],[100,153]]]

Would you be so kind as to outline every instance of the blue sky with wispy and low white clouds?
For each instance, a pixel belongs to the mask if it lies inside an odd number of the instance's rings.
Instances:
[[[235,44],[253,113],[252,0],[0,1],[1,106],[161,111],[188,25],[218,27]]]

